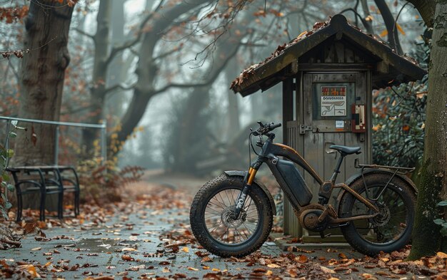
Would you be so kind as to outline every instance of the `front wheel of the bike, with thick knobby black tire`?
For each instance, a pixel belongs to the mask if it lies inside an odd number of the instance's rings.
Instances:
[[[266,241],[273,223],[271,204],[261,187],[251,185],[238,219],[233,219],[243,177],[221,175],[199,190],[191,205],[197,241],[217,256],[246,256]]]

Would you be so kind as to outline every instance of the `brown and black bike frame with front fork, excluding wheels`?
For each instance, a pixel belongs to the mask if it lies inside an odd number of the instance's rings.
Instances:
[[[266,140],[266,142],[263,143],[261,153],[258,155],[258,158],[251,164],[248,172],[246,172],[246,175],[243,179],[243,190],[241,191],[241,193],[238,195],[238,198],[236,199],[236,211],[234,213],[236,217],[238,217],[238,215],[241,213],[241,209],[243,209],[243,205],[245,203],[247,192],[248,192],[251,184],[253,183],[253,180],[256,176],[256,172],[258,171],[259,167],[261,167],[261,165],[264,162],[268,165],[271,172],[276,177],[276,180],[278,181],[281,189],[283,190],[284,194],[288,198],[289,202],[291,202],[293,208],[299,212],[302,207],[306,207],[306,205],[300,205],[298,203],[298,200],[296,199],[293,190],[291,189],[291,187],[288,187],[286,182],[283,180],[282,175],[278,171],[278,167],[276,167],[276,163],[278,162],[278,157],[286,157],[286,159],[288,159],[292,162],[295,162],[297,165],[303,167],[303,169],[306,170],[306,172],[308,172],[308,174],[311,175],[311,177],[313,177],[313,179],[315,179],[316,182],[318,182],[318,184],[320,185],[319,195],[324,195],[325,197],[330,197],[331,192],[333,191],[334,188],[342,188],[342,189],[346,190],[346,192],[351,193],[351,195],[356,197],[356,199],[361,201],[363,204],[365,204],[366,207],[373,210],[373,214],[358,215],[358,216],[348,217],[348,218],[333,217],[333,219],[331,219],[331,223],[341,224],[341,223],[346,223],[346,222],[350,222],[353,220],[369,219],[372,217],[376,217],[379,210],[375,205],[371,204],[371,202],[369,202],[368,199],[365,199],[364,197],[359,195],[357,192],[352,190],[351,187],[348,187],[348,185],[346,185],[344,183],[335,184],[337,175],[340,172],[339,170],[340,170],[340,167],[341,167],[341,164],[343,162],[345,155],[341,154],[341,157],[338,159],[338,162],[336,163],[336,167],[333,171],[333,175],[331,176],[331,179],[328,181],[324,181],[321,178],[321,176],[318,175],[318,173],[315,170],[313,170],[311,165],[309,165],[308,162],[306,160],[304,160],[304,158],[301,155],[299,155],[298,152],[296,152],[296,150],[294,150],[292,147],[289,147],[287,145],[273,143],[273,138],[275,137],[275,135],[273,133],[270,133],[267,136],[268,136],[268,139]],[[296,194],[296,195],[299,195],[299,194]],[[320,198],[322,198],[322,197],[320,196]],[[323,208],[323,205],[326,204],[327,202],[328,202],[328,199],[324,199],[324,198],[321,199],[319,202],[319,204],[321,205],[320,208],[325,209],[326,212],[328,212],[328,210],[332,211],[333,207],[331,205],[328,205],[328,208],[331,208],[331,209]],[[315,205],[315,204],[313,204],[313,205]]]

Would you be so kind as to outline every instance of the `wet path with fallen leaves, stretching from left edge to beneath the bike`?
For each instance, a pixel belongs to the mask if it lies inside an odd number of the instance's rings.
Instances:
[[[175,184],[169,181],[165,186]],[[195,192],[188,189],[177,195],[183,199]],[[176,204],[179,197],[171,197],[169,203]],[[148,198],[154,199],[154,195],[149,193],[140,199]],[[290,244],[283,234],[271,234],[254,256],[223,259],[208,254],[194,242],[189,227],[189,199],[179,207],[166,208],[158,207],[163,200],[135,202],[117,207],[115,214],[103,222],[86,218],[45,229],[46,237],[26,234],[21,248],[1,252],[0,264],[31,264],[38,268],[39,276],[47,279],[429,278],[414,276],[408,269],[392,272],[399,263],[391,256],[371,264],[347,244]],[[388,266],[390,261],[395,261],[396,266]]]

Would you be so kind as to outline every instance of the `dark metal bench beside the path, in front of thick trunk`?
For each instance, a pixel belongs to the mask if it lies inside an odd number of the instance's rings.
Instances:
[[[74,192],[74,215],[79,214],[79,178],[71,166],[8,167],[14,178],[17,195],[17,222],[21,220],[23,195],[40,193],[39,219],[45,220],[46,195],[58,194],[57,217],[64,217],[64,192]]]

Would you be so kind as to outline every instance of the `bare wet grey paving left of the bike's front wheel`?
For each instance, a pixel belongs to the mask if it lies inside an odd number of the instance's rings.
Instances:
[[[147,219],[141,219],[141,214],[118,216],[91,229],[46,229],[46,238],[51,240],[45,242],[36,240],[40,239],[39,235],[26,235],[22,247],[1,252],[2,259],[11,264],[16,261],[47,264],[49,273],[46,277],[64,279],[107,275],[136,279],[175,277],[176,274],[179,278],[183,274],[188,278],[202,278],[211,271],[228,271],[228,274],[236,275],[249,274],[253,270],[246,263],[233,263],[212,255],[209,261],[202,262],[203,258],[194,253],[205,251],[194,248],[196,245],[193,244],[183,244],[179,246],[179,252],[171,253],[169,245],[166,248],[165,244],[175,242],[163,237],[185,227],[189,219],[185,211],[169,209],[144,216]],[[266,242],[261,252],[278,255],[281,250],[273,242]]]

